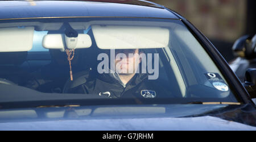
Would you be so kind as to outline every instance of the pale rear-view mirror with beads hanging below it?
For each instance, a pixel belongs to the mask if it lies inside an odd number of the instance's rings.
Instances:
[[[70,40],[70,41],[67,41]],[[87,34],[79,34],[77,37],[71,39],[65,38],[64,34],[48,34],[43,37],[43,47],[47,49],[60,49],[61,51],[65,50],[65,45],[69,46],[67,42],[73,42],[77,40],[76,44],[72,47],[77,48],[89,48],[92,46],[92,40]],[[71,44],[72,45],[72,44]],[[67,47],[72,49],[71,47]]]

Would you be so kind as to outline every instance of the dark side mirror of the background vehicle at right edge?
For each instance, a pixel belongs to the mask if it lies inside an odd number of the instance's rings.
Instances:
[[[237,39],[232,47],[233,54],[238,57],[242,57],[245,59],[254,59],[255,52],[254,49],[251,47],[251,39],[252,36],[245,35]]]

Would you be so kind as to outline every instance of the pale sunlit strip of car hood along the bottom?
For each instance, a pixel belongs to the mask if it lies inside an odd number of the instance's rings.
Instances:
[[[189,118],[125,118],[1,123],[0,130],[256,130],[214,116]]]

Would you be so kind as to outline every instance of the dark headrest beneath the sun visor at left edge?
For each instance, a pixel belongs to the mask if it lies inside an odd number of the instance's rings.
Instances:
[[[0,64],[20,65],[27,60],[27,51],[24,52],[0,52]]]

